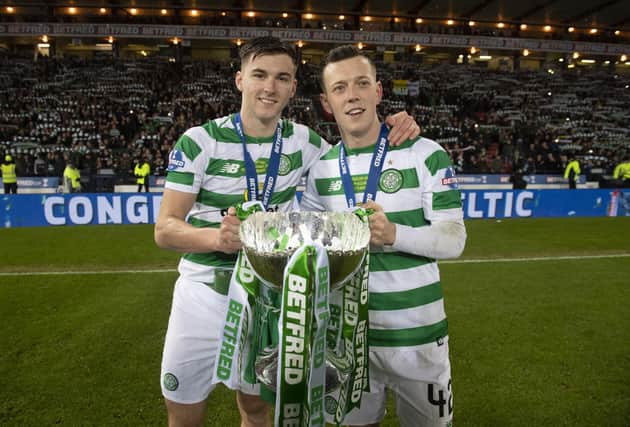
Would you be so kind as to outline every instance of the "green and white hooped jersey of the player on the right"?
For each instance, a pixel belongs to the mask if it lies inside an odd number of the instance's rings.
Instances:
[[[356,200],[361,202],[374,145],[346,151]],[[388,148],[375,201],[391,222],[410,227],[463,219],[450,158],[442,147],[425,138]],[[339,144],[311,168],[301,208],[347,209],[339,176]],[[448,334],[434,259],[403,252],[373,252],[369,291],[372,349],[417,347]]]

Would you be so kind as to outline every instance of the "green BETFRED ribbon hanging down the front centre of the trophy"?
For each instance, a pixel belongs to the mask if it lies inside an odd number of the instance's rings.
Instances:
[[[285,267],[276,426],[325,425],[328,278],[328,256],[322,247],[302,245]]]

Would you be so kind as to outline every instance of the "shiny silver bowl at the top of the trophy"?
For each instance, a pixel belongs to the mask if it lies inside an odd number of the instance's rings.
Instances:
[[[284,267],[298,247],[321,244],[335,289],[361,266],[370,229],[352,212],[256,212],[241,223],[240,237],[256,275],[273,288],[282,288]]]

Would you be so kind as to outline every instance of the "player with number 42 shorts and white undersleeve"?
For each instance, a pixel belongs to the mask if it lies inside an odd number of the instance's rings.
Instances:
[[[401,426],[450,425],[448,331],[436,259],[459,256],[466,241],[453,167],[433,141],[388,144],[377,115],[383,89],[361,51],[338,47],[324,64],[322,104],[343,141],[311,168],[301,207],[338,211],[363,203],[374,210],[370,392],[344,423],[377,426],[390,389]]]

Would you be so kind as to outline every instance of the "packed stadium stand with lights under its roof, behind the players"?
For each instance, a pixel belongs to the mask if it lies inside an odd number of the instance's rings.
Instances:
[[[172,30],[174,34],[194,26],[219,32],[241,28],[238,34],[249,28],[254,32],[314,29],[355,39],[367,33],[375,34],[376,40],[384,36],[387,43],[373,42],[369,50],[387,94],[379,112],[406,109],[413,114],[423,135],[448,150],[459,173],[510,174],[517,169],[522,174],[559,174],[571,153],[581,160],[583,173],[591,180],[612,174],[630,152],[630,73],[623,67],[630,62],[627,55],[619,58],[609,53],[624,52],[628,46],[630,32],[617,19],[618,5],[592,7],[588,2],[561,0],[553,7],[526,11],[509,5],[504,14],[512,19],[497,23],[492,9],[486,8],[491,2],[471,7],[454,1],[457,13],[449,11],[455,19],[448,20],[439,15],[443,2],[435,2],[431,10],[426,3],[402,1],[394,13],[379,2],[362,1],[345,15],[339,15],[342,5],[326,0],[318,4],[326,11],[321,14],[280,13],[277,5],[264,1],[256,6],[265,12],[234,8],[229,2],[193,10],[194,4],[187,1],[165,2],[160,8],[143,1],[89,0],[80,7],[54,2],[44,8],[27,3],[4,7],[0,154],[12,154],[17,174],[23,177],[59,177],[71,158],[82,176],[112,176],[117,183],[129,184],[134,161],[142,157],[150,160],[153,174],[163,176],[168,153],[185,129],[237,109],[233,76],[240,39],[222,36],[217,43],[222,43],[222,52],[217,55],[217,49],[211,60],[207,45],[199,50],[199,44],[189,40],[182,46],[181,38],[169,39],[165,45],[164,37],[153,35],[149,41],[138,41],[136,46],[151,47],[141,50],[132,48],[135,39],[120,35],[108,37],[110,46],[106,43],[107,49],[101,49],[94,37],[83,41],[81,35],[118,24],[127,25],[120,31]],[[567,8],[575,14],[567,17],[563,13]],[[582,25],[596,15],[600,24],[607,25],[599,29]],[[543,25],[546,22],[552,25]],[[58,40],[36,35],[44,28],[56,31]],[[415,52],[413,46],[392,45],[397,37],[392,34],[398,33],[437,38],[424,55],[426,49],[420,45]],[[440,36],[444,40],[439,41]],[[457,44],[465,41],[457,37],[465,36],[473,37],[466,43],[487,39],[487,46],[551,44],[535,60],[526,58],[527,49],[504,50],[500,55],[505,62],[490,67],[479,56],[489,56],[491,48]],[[37,46],[40,38],[48,47]],[[571,57],[566,43],[606,53],[586,66],[578,63],[577,52]],[[301,49],[299,90],[285,116],[336,143],[336,126],[321,109],[317,86],[318,59],[332,45],[311,44],[310,51]]]

